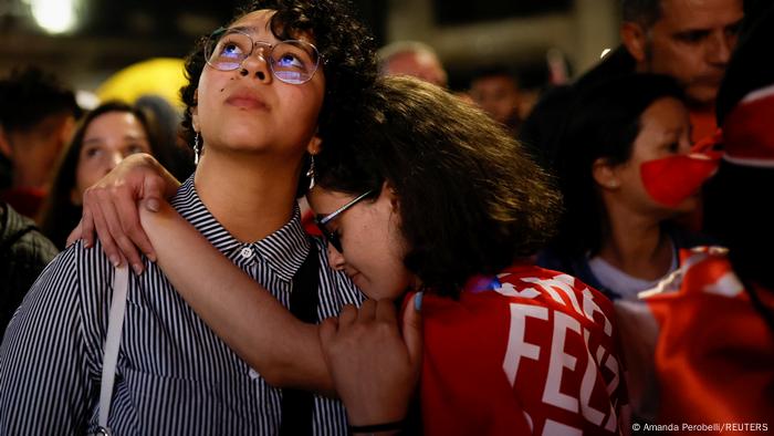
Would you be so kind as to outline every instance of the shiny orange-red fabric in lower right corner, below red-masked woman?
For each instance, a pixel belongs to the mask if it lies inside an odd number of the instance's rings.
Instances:
[[[627,344],[655,343],[658,422],[767,427],[774,416],[774,333],[724,250],[700,247],[680,256],[680,270],[645,300],[656,338],[644,330],[625,338]],[[774,308],[771,291],[757,294]],[[768,428],[752,428],[762,429]]]

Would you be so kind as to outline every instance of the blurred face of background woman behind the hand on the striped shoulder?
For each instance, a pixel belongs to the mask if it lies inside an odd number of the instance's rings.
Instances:
[[[143,124],[128,112],[107,112],[86,127],[75,170],[73,204],[80,205],[83,191],[115,168],[126,156],[151,153]]]

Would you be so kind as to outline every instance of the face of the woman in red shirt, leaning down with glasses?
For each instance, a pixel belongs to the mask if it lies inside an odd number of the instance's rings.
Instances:
[[[316,186],[307,198],[320,219],[356,197]],[[346,209],[326,225],[343,250],[328,242],[331,268],[344,271],[368,298],[401,297],[416,278],[404,266],[407,249],[399,225],[397,199],[387,188],[376,200],[364,199]]]

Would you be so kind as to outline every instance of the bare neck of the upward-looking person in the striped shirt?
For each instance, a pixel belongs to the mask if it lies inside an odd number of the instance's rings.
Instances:
[[[292,217],[301,163],[265,156],[239,156],[208,149],[194,183],[201,201],[238,240],[253,242],[279,230]]]

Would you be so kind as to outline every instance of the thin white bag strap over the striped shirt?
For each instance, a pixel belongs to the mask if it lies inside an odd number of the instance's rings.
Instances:
[[[113,274],[113,300],[111,313],[107,319],[107,338],[105,339],[105,354],[102,361],[102,382],[100,384],[100,416],[97,434],[109,435],[107,417],[111,413],[113,399],[113,385],[121,347],[121,334],[124,330],[124,312],[126,311],[126,293],[129,288],[129,268],[118,267]]]

